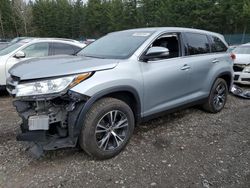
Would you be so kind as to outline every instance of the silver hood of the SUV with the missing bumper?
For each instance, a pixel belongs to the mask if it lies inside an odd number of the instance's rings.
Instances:
[[[21,80],[29,80],[112,69],[117,64],[118,60],[114,59],[64,55],[29,59],[14,65],[9,73]]]

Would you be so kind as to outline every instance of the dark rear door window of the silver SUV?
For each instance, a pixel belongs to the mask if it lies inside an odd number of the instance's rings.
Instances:
[[[197,33],[186,33],[187,54],[205,54],[210,52],[210,46],[206,35]]]

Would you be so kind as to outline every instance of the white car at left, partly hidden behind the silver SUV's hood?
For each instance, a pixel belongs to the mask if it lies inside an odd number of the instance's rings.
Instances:
[[[5,88],[8,70],[19,63],[34,57],[52,55],[73,55],[86,44],[71,39],[26,38],[0,51],[0,88]]]

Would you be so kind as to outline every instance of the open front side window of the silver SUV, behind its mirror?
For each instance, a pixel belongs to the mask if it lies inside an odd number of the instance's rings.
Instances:
[[[164,47],[169,50],[169,56],[164,59],[175,58],[180,56],[178,34],[164,34],[157,38],[151,45],[151,47]]]

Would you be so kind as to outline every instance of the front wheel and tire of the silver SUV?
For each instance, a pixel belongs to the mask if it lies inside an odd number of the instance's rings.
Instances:
[[[79,144],[96,159],[111,158],[127,145],[134,124],[134,114],[125,102],[115,98],[100,99],[86,113]]]

